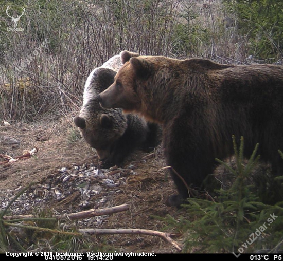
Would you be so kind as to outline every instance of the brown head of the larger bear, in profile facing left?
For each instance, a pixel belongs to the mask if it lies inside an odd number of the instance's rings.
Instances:
[[[117,72],[114,83],[98,96],[100,105],[121,108],[123,113],[141,114],[147,121],[163,123],[148,107],[149,104],[158,104],[160,95],[152,89],[152,85],[168,80],[166,71],[170,70],[170,64],[164,57],[139,56],[129,51],[121,52],[121,61],[123,66]]]

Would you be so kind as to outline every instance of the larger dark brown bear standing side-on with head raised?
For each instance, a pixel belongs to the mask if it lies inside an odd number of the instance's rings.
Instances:
[[[188,186],[201,187],[215,158],[233,155],[232,135],[238,142],[244,137],[247,157],[259,142],[261,160],[272,164],[274,175],[283,174],[283,67],[137,55],[121,53],[125,64],[99,95],[100,104],[163,124],[167,165]],[[170,206],[189,196],[174,171],[179,195],[168,199]]]

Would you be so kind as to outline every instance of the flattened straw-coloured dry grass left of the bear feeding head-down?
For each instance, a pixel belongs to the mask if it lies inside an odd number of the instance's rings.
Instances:
[[[13,189],[15,186],[26,185],[30,182],[40,182],[46,175],[56,174],[57,168],[70,166],[71,163],[82,164],[92,161],[94,154],[81,142],[72,143],[68,140],[70,120],[43,121],[40,123],[18,123],[11,126],[1,126],[0,136],[10,136],[21,141],[18,148],[2,146],[2,153],[12,157],[22,155],[37,147],[38,153],[26,161],[17,161],[7,169],[0,169],[2,181],[0,189]],[[38,137],[46,137],[46,141],[38,141]]]

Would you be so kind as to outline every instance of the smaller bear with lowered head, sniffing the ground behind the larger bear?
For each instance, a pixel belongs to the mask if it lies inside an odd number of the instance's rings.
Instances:
[[[119,55],[114,58],[117,57],[120,63]],[[114,82],[116,71],[112,65],[108,61],[92,71],[85,84],[80,114],[74,117],[81,136],[96,149],[104,167],[121,165],[135,148],[154,148],[161,139],[161,128],[157,124],[132,114],[123,115],[121,109],[105,109],[99,105],[97,95]]]

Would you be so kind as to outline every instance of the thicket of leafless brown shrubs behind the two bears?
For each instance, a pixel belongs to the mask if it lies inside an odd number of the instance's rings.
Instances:
[[[230,17],[220,0],[204,3],[28,0],[24,31],[3,30],[0,39],[2,117],[34,121],[77,110],[89,73],[122,50],[242,62],[247,39],[223,22]],[[10,27],[1,7],[0,23]]]

